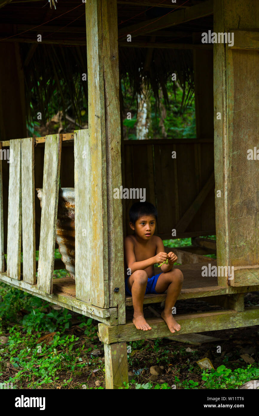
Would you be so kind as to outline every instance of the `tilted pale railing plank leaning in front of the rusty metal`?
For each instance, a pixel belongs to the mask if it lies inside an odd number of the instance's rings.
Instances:
[[[61,135],[46,136],[37,277],[37,288],[46,293],[52,293],[60,157]]]

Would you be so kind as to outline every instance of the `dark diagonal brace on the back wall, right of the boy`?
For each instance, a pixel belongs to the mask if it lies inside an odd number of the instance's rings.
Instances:
[[[200,209],[200,206],[205,201],[207,194],[210,192],[212,187],[214,186],[214,172],[210,175],[209,179],[203,186],[200,193],[197,195],[195,200],[193,201],[192,205],[187,209],[183,217],[180,221],[175,225],[176,233],[183,233],[187,226],[190,224],[192,218],[195,216],[197,211]]]

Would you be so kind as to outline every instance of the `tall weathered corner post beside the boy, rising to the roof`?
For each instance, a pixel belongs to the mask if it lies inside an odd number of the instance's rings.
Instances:
[[[86,2],[89,140],[96,154],[96,183],[102,187],[102,203],[96,205],[103,227],[103,268],[109,276],[109,306],[118,307],[118,323],[125,322],[123,230],[121,200],[113,189],[121,186],[121,128],[118,83],[118,33],[116,0]],[[108,270],[109,262],[109,270]],[[104,275],[102,275],[104,273]],[[114,292],[114,289],[116,291]]]

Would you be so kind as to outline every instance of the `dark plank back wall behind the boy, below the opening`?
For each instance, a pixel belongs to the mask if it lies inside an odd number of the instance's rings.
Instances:
[[[176,238],[215,233],[212,139],[124,141],[124,188],[146,188],[158,209],[157,235]],[[176,158],[172,158],[176,151]],[[124,230],[136,200],[123,200]]]

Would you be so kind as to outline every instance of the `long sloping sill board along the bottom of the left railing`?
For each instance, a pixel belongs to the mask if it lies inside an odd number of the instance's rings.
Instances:
[[[7,283],[10,286],[17,287],[31,295],[47,300],[47,302],[62,306],[74,312],[96,319],[99,322],[104,322],[107,325],[116,325],[117,308],[102,309],[93,305],[82,302],[81,300],[72,299],[70,295],[65,293],[47,294],[37,289],[37,285],[30,285],[30,283],[23,280],[16,280],[7,277],[6,273],[0,273],[0,281]],[[118,317],[117,317],[118,319]]]

